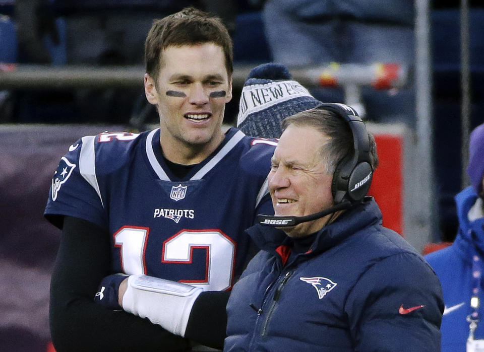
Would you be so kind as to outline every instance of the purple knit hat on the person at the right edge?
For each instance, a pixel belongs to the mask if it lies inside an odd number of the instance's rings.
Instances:
[[[484,177],[484,123],[475,127],[470,133],[467,173],[469,174],[470,183],[477,194],[480,194],[482,177]]]

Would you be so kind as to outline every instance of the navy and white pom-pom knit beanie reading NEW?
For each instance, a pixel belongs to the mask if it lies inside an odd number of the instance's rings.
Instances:
[[[287,116],[321,104],[298,82],[286,66],[264,63],[252,69],[240,95],[237,127],[245,134],[279,138]]]

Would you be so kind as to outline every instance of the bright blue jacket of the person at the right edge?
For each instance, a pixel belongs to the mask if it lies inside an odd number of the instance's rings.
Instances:
[[[459,232],[454,243],[426,256],[439,276],[444,293],[442,317],[442,351],[464,352],[469,335],[467,316],[471,313],[472,256],[484,253],[484,218],[469,221],[468,213],[477,200],[474,188],[467,187],[456,195]],[[481,286],[481,290],[483,287]],[[482,291],[481,291],[482,292]],[[481,306],[482,306],[482,299]],[[482,316],[482,309],[480,312]],[[484,322],[477,324],[475,339],[484,339]]]

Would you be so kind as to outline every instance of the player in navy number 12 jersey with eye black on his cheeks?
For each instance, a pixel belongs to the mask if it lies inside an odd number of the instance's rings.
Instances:
[[[50,295],[59,352],[190,349],[146,319],[95,304],[101,278],[146,274],[230,290],[252,256],[244,230],[273,212],[266,177],[277,142],[222,131],[232,42],[221,22],[193,8],[156,20],[145,59],[160,127],[84,136],[52,178],[45,217],[63,230]]]

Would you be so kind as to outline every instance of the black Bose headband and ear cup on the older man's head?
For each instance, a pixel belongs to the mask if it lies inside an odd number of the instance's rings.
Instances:
[[[346,121],[353,135],[353,152],[336,166],[331,191],[334,203],[348,200],[358,202],[368,193],[372,183],[373,168],[370,162],[370,142],[365,124],[356,111],[348,105],[322,103],[316,107],[335,113]]]

